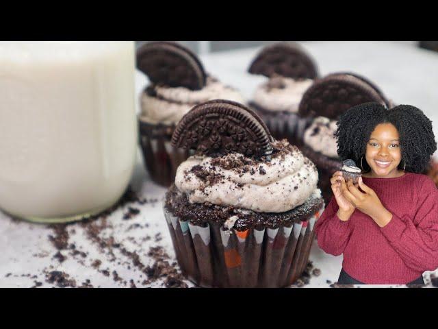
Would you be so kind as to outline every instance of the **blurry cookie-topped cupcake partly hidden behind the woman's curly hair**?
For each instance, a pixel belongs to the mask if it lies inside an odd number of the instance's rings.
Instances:
[[[318,168],[319,186],[326,203],[332,196],[330,178],[335,171],[342,169],[335,138],[337,120],[352,106],[369,101],[391,107],[377,86],[355,73],[327,75],[316,81],[302,97],[298,114],[308,118],[309,125],[300,136],[300,150]]]

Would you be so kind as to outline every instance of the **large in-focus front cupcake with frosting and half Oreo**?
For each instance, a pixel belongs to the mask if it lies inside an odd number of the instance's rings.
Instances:
[[[201,287],[294,283],[324,207],[315,165],[233,101],[195,106],[172,145],[194,151],[164,205],[183,274]]]

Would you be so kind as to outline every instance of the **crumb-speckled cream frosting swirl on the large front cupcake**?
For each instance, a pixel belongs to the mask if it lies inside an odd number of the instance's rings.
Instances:
[[[218,164],[242,160],[248,164],[224,166],[227,169]],[[175,185],[191,203],[209,202],[255,212],[292,210],[315,193],[317,182],[315,165],[296,147],[273,156],[270,162],[255,162],[242,154],[192,156],[179,166],[175,178]]]

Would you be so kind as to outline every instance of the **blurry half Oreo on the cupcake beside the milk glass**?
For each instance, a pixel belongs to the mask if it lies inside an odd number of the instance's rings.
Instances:
[[[153,84],[202,89],[207,82],[203,65],[189,49],[175,42],[149,42],[137,51],[137,68]]]

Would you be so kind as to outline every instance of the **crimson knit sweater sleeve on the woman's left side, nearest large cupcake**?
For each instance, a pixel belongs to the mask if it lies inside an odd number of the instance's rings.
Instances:
[[[336,199],[332,197],[315,226],[318,245],[324,252],[334,256],[344,253],[351,235],[350,221],[339,219],[338,209]]]

